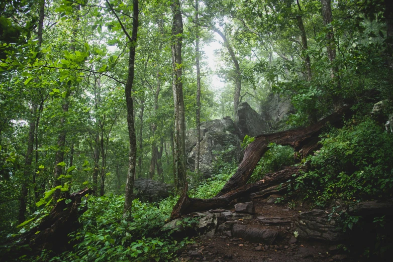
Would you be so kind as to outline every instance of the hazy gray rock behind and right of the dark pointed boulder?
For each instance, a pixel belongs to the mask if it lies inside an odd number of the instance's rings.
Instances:
[[[260,105],[260,110],[263,119],[269,125],[294,112],[290,99],[282,97],[278,93],[270,93],[266,101]]]

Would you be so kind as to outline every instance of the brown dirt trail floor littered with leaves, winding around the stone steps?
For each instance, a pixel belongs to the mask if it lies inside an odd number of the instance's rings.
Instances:
[[[351,258],[337,245],[329,242],[303,240],[293,237],[293,221],[301,207],[288,209],[285,204],[268,204],[266,200],[254,200],[253,219],[244,219],[241,224],[259,229],[273,229],[279,232],[272,245],[245,241],[227,233],[214,236],[200,236],[195,243],[186,246],[179,261],[361,261],[361,257]],[[282,223],[263,223],[257,217],[286,218]],[[273,219],[274,221],[274,219]],[[293,243],[294,242],[294,243]]]

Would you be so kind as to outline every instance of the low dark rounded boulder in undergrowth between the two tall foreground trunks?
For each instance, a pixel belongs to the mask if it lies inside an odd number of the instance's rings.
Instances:
[[[136,197],[140,201],[157,202],[169,196],[169,191],[173,191],[173,184],[165,184],[157,180],[139,178],[134,181]]]

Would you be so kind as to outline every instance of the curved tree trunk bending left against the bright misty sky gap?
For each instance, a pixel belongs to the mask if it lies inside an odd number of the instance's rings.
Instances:
[[[221,38],[224,40],[224,45],[227,47],[229,54],[231,55],[233,65],[235,66],[235,92],[233,94],[233,112],[234,112],[234,121],[235,125],[238,127],[239,123],[239,117],[237,114],[237,109],[239,107],[239,101],[240,101],[240,91],[242,89],[242,79],[241,79],[241,71],[240,71],[240,66],[239,62],[237,61],[235,52],[233,51],[231,45],[228,42],[227,37],[217,28],[213,28],[213,31],[216,32],[221,36]]]

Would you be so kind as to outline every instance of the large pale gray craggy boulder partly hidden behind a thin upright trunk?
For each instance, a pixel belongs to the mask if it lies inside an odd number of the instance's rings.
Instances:
[[[193,171],[197,153],[196,129],[187,130],[185,149],[187,167]],[[223,160],[227,162],[231,162],[232,159],[239,162],[243,157],[240,140],[235,132],[234,122],[230,117],[215,119],[201,124],[200,171],[205,177],[210,177],[212,163],[220,154],[223,154]]]

